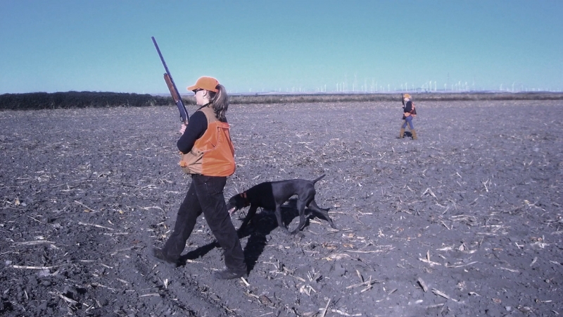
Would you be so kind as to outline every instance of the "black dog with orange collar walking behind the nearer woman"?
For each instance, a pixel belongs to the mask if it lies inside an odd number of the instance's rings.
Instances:
[[[316,180],[279,180],[277,182],[262,182],[254,187],[251,187],[246,192],[241,192],[236,194],[227,204],[227,210],[229,213],[234,213],[239,209],[243,209],[246,206],[251,206],[248,209],[248,215],[244,218],[244,221],[239,228],[239,232],[246,227],[248,221],[255,215],[258,207],[262,209],[275,211],[277,224],[279,228],[282,228],[287,234],[289,230],[286,228],[284,223],[281,222],[281,204],[284,204],[291,196],[297,195],[297,210],[299,211],[299,225],[296,230],[291,232],[295,235],[299,230],[305,227],[305,207],[312,209],[321,213],[324,218],[327,218],[332,228],[336,229],[336,226],[329,217],[329,213],[317,206],[315,202],[315,182],[324,178],[322,175]]]

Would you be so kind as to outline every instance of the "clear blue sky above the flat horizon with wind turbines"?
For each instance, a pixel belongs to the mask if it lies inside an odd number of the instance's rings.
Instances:
[[[563,90],[563,1],[0,0],[0,94]]]

